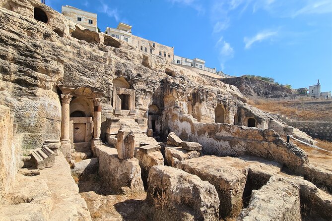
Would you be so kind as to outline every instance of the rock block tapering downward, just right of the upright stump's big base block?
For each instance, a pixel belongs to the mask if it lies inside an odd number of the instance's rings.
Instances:
[[[135,158],[139,162],[144,188],[147,189],[147,178],[149,176],[150,168],[152,166],[163,166],[164,157],[162,156],[160,151],[145,153],[145,150],[143,150],[141,148],[136,148]]]

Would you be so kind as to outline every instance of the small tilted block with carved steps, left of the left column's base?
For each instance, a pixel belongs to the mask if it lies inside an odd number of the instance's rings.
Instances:
[[[51,167],[55,162],[55,153],[48,147],[43,146],[31,152],[31,161],[38,169]]]

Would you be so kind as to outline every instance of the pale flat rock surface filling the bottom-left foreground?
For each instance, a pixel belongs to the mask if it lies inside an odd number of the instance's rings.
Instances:
[[[0,208],[1,221],[91,221],[63,156],[57,156],[54,166],[39,172],[34,176],[17,175],[9,194],[10,204]]]

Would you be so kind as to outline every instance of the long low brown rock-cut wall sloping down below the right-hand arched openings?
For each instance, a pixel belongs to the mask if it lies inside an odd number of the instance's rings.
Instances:
[[[170,110],[169,128],[182,140],[198,142],[205,155],[252,155],[279,162],[298,171],[308,163],[305,152],[271,129],[249,128],[221,123],[200,123],[177,108]]]

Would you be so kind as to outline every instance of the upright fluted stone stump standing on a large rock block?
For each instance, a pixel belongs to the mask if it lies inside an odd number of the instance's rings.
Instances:
[[[119,159],[129,159],[134,156],[135,135],[133,131],[119,130],[117,139],[117,151]]]

